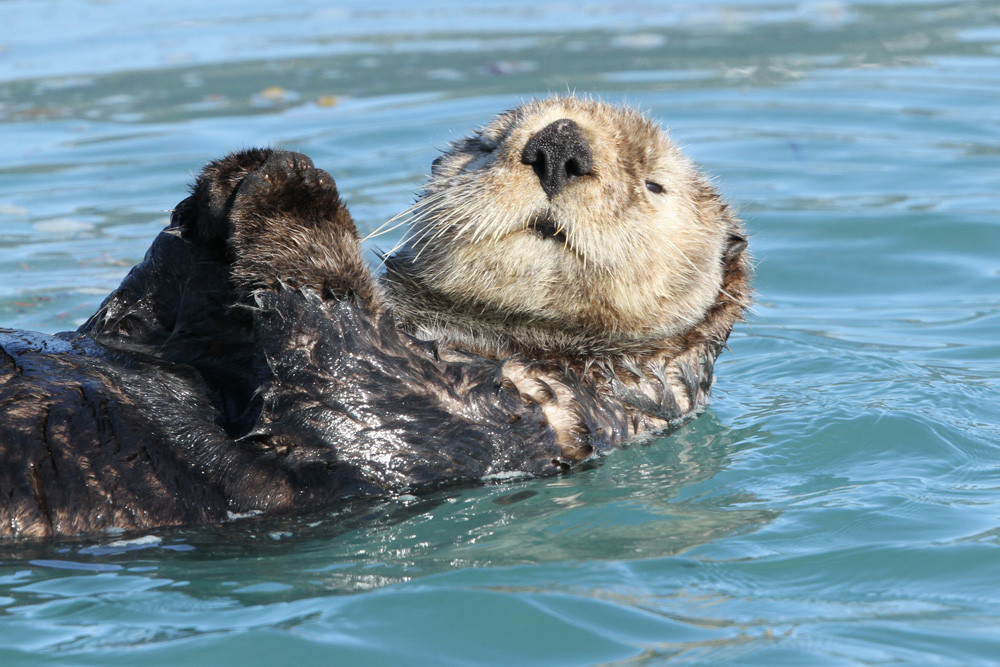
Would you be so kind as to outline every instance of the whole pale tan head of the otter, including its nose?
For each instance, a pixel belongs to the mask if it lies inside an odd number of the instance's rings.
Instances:
[[[654,122],[577,98],[530,102],[434,161],[387,261],[418,336],[480,353],[661,347],[719,297],[738,225]]]

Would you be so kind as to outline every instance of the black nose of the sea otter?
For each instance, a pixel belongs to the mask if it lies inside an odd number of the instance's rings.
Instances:
[[[580,126],[569,118],[550,123],[528,139],[521,162],[532,166],[549,199],[577,176],[591,173],[594,166]]]

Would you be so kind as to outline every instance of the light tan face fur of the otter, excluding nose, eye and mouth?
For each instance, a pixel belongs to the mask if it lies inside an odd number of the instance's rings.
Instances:
[[[521,155],[562,118],[579,125],[593,170],[550,201]],[[435,161],[407,245],[424,284],[466,312],[608,340],[662,339],[697,323],[719,292],[727,232],[719,206],[641,114],[547,99],[499,116]],[[536,233],[531,223],[541,219],[565,241]]]

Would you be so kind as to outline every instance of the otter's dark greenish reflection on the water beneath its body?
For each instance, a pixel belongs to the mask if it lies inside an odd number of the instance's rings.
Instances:
[[[773,516],[738,507],[751,498],[720,496],[711,487],[693,491],[757,437],[753,428],[733,431],[705,415],[668,438],[636,443],[562,477],[358,501],[287,519],[67,541],[55,549],[8,545],[0,557],[56,571],[50,574],[58,588],[58,570],[124,571],[137,556],[155,553],[156,580],[170,578],[172,566],[196,562],[199,591],[214,593],[234,581],[266,581],[279,558],[294,596],[317,588],[356,592],[455,568],[663,556]],[[687,497],[679,500],[681,493]],[[230,570],[247,557],[239,572]]]

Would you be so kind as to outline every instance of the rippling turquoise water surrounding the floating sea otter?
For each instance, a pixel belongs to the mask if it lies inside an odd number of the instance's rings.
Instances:
[[[993,0],[0,2],[0,323],[78,325],[229,150],[308,153],[367,231],[566,91],[752,230],[710,410],[557,479],[2,544],[0,662],[1000,661]]]

